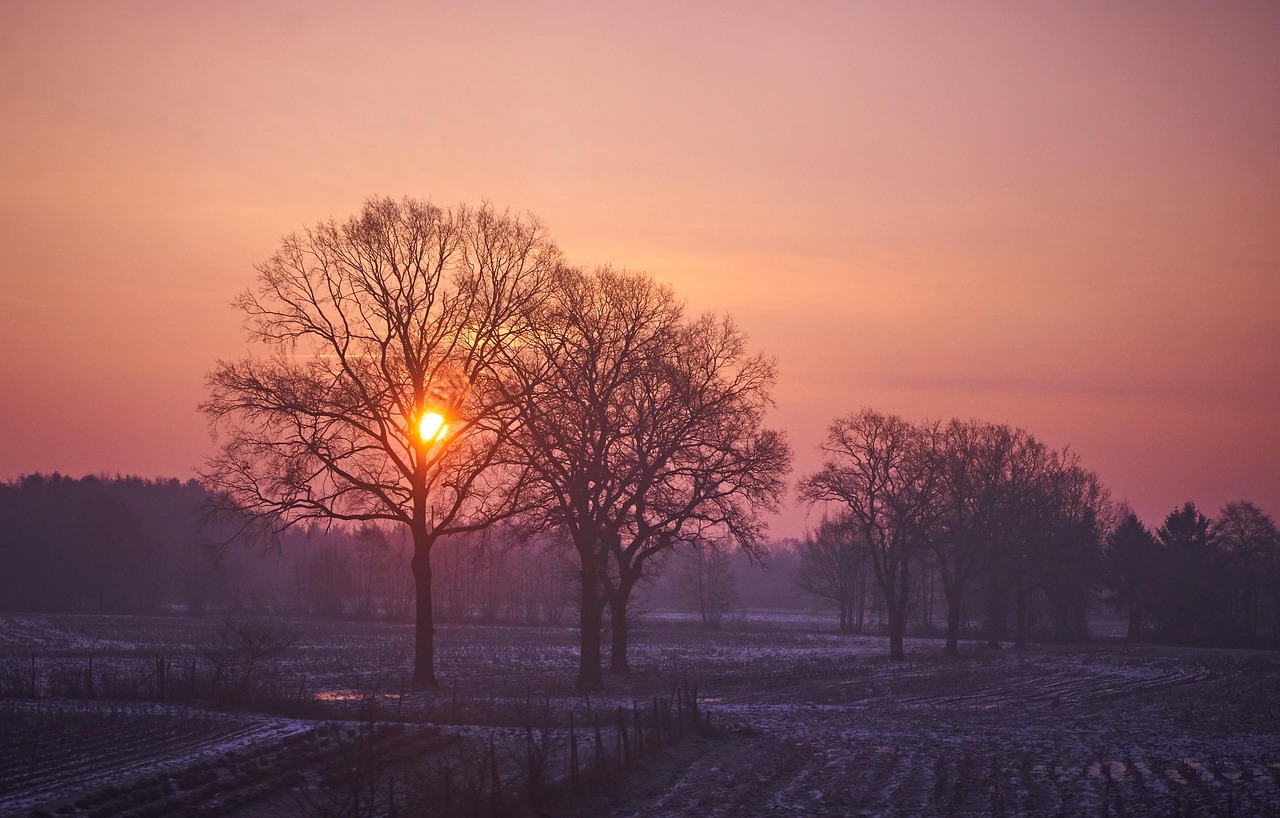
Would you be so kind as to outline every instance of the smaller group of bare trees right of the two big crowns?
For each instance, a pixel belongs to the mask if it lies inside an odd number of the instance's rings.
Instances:
[[[838,605],[842,627],[860,623],[869,566],[893,658],[922,599],[918,571],[941,585],[948,654],[974,608],[992,641],[1011,627],[1025,643],[1038,602],[1060,639],[1087,635],[1114,511],[1074,453],[1007,425],[910,422],[870,410],[836,420],[822,449],[800,497],[829,516],[799,547],[797,581]]]

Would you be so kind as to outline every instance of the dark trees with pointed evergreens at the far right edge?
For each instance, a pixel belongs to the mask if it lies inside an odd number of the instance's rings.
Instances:
[[[1106,580],[1129,639],[1258,644],[1280,636],[1280,535],[1249,502],[1210,520],[1187,503],[1149,531],[1125,512],[1107,539]]]

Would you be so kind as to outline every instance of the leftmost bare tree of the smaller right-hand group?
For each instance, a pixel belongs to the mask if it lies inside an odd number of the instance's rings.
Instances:
[[[832,503],[860,529],[888,614],[890,658],[904,658],[910,566],[928,547],[940,490],[936,422],[863,410],[836,420],[822,469],[800,481],[809,503]]]

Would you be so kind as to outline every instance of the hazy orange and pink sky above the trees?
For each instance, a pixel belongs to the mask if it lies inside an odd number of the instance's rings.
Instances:
[[[1280,516],[1277,4],[0,3],[0,480],[195,476],[232,300],[370,196],[732,315],[795,476],[869,407]]]

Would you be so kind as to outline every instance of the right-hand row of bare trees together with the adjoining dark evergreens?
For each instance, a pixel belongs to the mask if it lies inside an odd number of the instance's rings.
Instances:
[[[1153,534],[1070,449],[977,420],[865,410],[835,421],[822,448],[800,497],[827,516],[796,544],[796,582],[847,631],[861,631],[870,589],[891,657],[902,655],[911,608],[932,602],[915,575],[941,586],[951,655],[974,622],[991,645],[1025,645],[1037,621],[1057,641],[1087,639],[1088,611],[1103,600],[1126,613],[1134,640],[1280,636],[1280,538],[1252,503],[1216,520],[1187,503]]]

